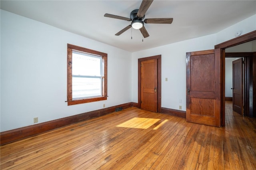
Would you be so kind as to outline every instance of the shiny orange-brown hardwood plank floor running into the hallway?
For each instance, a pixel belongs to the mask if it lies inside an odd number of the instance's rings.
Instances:
[[[255,170],[256,119],[233,112],[230,101],[222,128],[132,107],[5,144],[0,152],[1,170]]]

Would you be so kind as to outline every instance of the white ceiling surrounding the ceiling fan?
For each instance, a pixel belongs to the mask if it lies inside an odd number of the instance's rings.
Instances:
[[[1,0],[0,6],[3,10],[131,52],[215,34],[256,14],[256,0],[154,0],[145,18],[174,18],[172,24],[144,24],[150,36],[143,42],[139,30],[130,29],[115,36],[130,22],[107,18],[104,14],[130,18],[130,12],[138,9],[141,2]]]

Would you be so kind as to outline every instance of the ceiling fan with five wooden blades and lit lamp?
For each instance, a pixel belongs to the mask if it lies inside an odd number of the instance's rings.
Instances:
[[[140,4],[140,8],[138,10],[133,10],[130,13],[130,18],[122,17],[122,16],[116,16],[112,14],[105,14],[105,17],[109,18],[115,18],[119,20],[126,20],[126,21],[132,21],[129,26],[122,29],[120,32],[116,33],[116,36],[120,36],[125,31],[129,30],[131,27],[134,29],[140,29],[140,32],[142,33],[144,38],[147,38],[149,36],[146,28],[144,27],[145,24],[172,24],[173,18],[147,18],[143,21],[145,18],[145,13],[150,7],[153,0],[142,0]]]

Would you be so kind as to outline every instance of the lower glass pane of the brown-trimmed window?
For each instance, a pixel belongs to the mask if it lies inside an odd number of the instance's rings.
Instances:
[[[72,77],[72,98],[101,96],[101,77]]]

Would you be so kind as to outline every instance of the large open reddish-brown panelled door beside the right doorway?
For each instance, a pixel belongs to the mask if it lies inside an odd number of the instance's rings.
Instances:
[[[186,121],[221,126],[221,50],[186,53]]]

